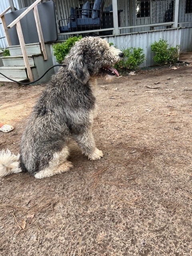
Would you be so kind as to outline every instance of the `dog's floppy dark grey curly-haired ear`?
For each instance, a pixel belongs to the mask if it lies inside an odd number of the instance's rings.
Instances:
[[[88,82],[90,74],[83,61],[82,54],[74,54],[72,56],[68,69],[73,72],[74,76],[82,82],[82,84],[86,84],[86,82]]]

